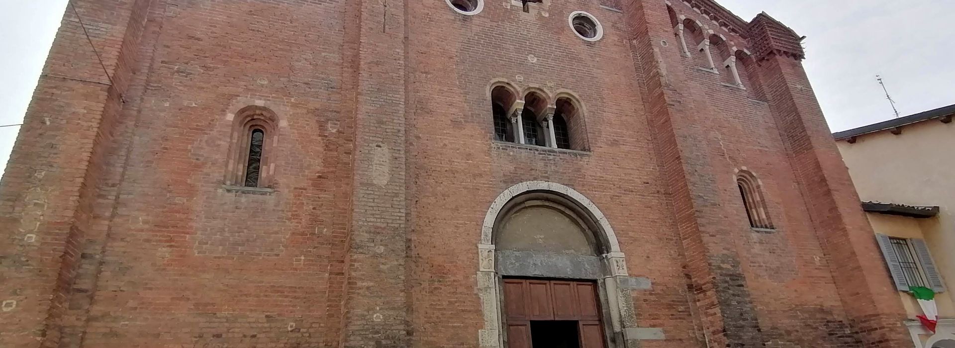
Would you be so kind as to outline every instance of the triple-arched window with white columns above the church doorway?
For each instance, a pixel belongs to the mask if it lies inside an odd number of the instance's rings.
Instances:
[[[551,103],[544,92],[529,91],[519,95],[508,85],[492,89],[495,140],[586,150],[584,115],[572,96],[559,94]]]

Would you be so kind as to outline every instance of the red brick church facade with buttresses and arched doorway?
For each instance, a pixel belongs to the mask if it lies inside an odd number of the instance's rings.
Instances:
[[[800,42],[711,0],[74,0],[0,346],[910,345]]]

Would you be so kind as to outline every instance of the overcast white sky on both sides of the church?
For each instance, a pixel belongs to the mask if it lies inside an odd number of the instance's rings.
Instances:
[[[717,0],[743,19],[766,11],[805,41],[806,71],[834,132],[955,104],[952,0]],[[0,0],[0,126],[21,123],[66,0]],[[0,128],[0,171],[18,127]]]

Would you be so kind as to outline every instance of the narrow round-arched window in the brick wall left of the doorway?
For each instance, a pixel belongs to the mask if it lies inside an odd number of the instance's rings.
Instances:
[[[226,186],[271,187],[276,124],[275,113],[260,106],[245,107],[233,116]]]

